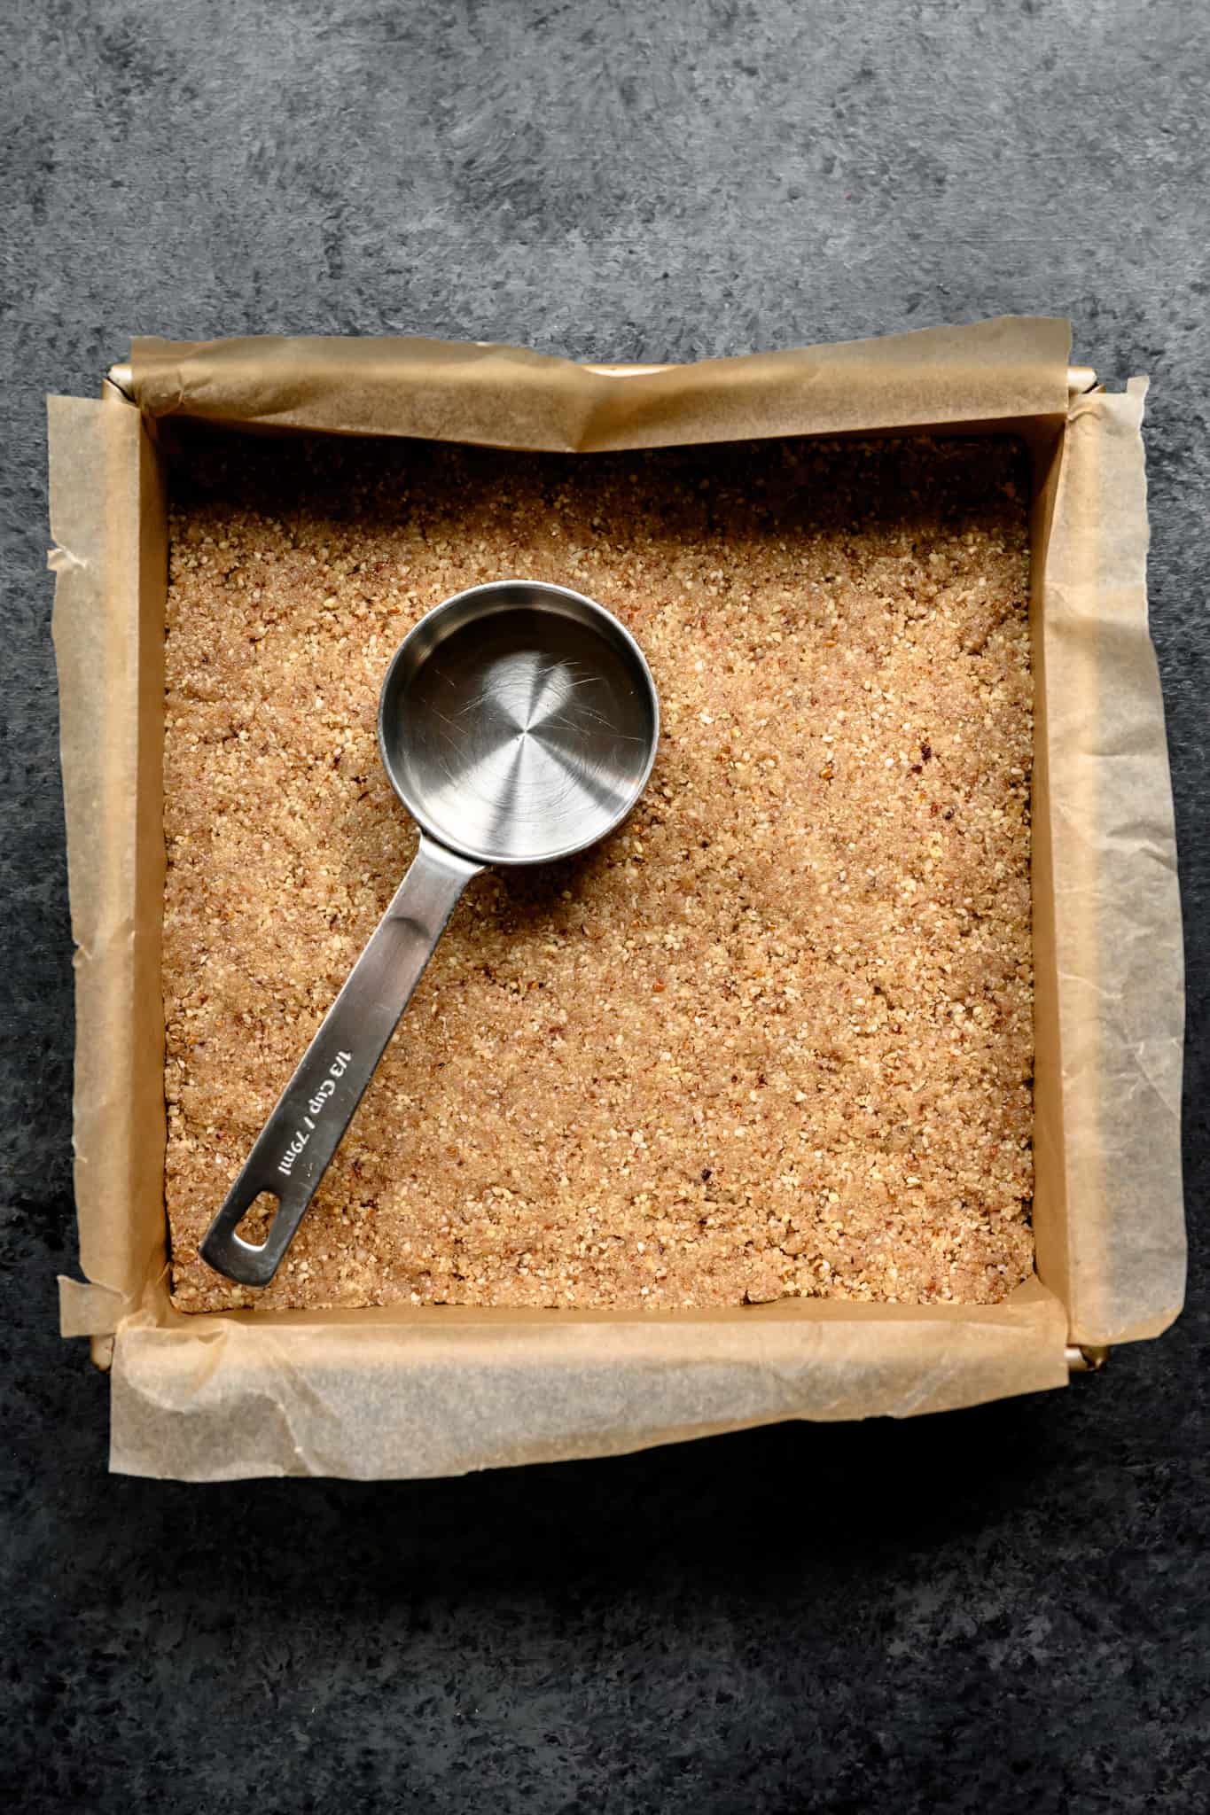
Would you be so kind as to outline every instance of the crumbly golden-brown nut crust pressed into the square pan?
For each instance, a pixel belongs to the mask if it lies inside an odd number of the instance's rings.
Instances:
[[[180,1309],[990,1303],[1029,1274],[1016,443],[190,432],[174,465]],[[415,848],[383,672],[506,575],[633,630],[653,779],[584,857],[470,886],[278,1278],[230,1287],[198,1241]]]

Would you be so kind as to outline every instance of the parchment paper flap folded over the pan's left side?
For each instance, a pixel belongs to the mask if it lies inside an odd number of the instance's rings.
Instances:
[[[51,566],[76,944],[80,1269],[65,1336],[163,1270],[163,481],[136,410],[51,397]]]

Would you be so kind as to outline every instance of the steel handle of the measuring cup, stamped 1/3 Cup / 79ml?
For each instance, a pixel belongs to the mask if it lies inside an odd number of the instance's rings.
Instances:
[[[216,1272],[239,1285],[272,1280],[459,895],[481,869],[421,839],[395,898],[205,1232],[200,1252]],[[261,1192],[278,1198],[278,1211],[258,1247],[236,1229]]]

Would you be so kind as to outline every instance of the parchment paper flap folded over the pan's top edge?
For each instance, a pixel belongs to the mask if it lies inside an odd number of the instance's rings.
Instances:
[[[1005,316],[633,376],[521,347],[276,336],[136,339],[131,365],[149,416],[600,454],[1047,416],[1069,350],[1067,321]]]

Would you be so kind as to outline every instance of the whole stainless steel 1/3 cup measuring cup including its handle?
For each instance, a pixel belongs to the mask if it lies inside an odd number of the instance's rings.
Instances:
[[[205,1234],[210,1267],[272,1280],[470,878],[613,831],[648,782],[659,722],[635,639],[566,586],[472,586],[405,637],[377,742],[421,844]],[[278,1209],[254,1245],[238,1225],[263,1192]]]

